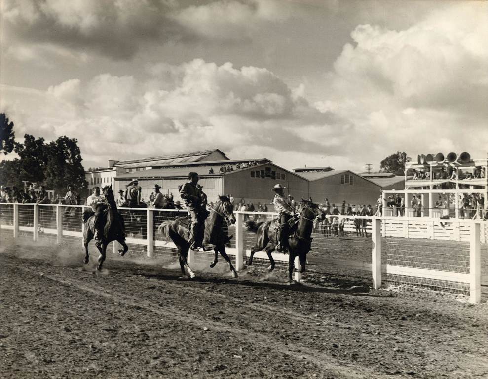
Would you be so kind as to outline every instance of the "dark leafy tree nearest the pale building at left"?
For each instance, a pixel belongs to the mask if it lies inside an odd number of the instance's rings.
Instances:
[[[46,145],[45,184],[58,193],[63,193],[68,185],[78,191],[88,188],[85,169],[81,161],[78,140],[66,136],[59,137]]]

